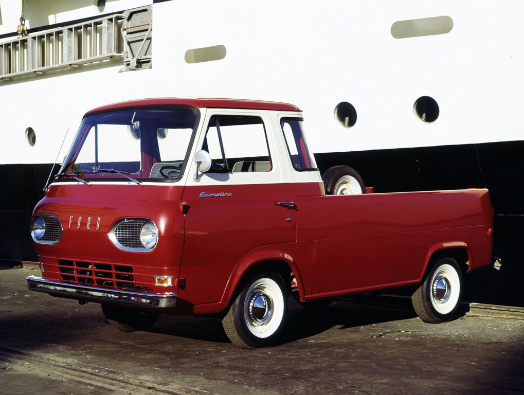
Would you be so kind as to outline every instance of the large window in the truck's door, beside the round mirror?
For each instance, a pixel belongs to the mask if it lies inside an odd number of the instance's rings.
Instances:
[[[213,116],[202,148],[211,155],[210,172],[271,170],[266,129],[256,116]]]

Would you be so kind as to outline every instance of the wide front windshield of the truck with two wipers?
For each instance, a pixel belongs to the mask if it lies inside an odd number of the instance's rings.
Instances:
[[[198,113],[192,108],[141,108],[84,117],[57,178],[112,180],[181,177]]]

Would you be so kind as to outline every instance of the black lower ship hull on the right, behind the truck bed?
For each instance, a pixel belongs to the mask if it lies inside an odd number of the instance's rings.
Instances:
[[[467,276],[464,300],[524,306],[524,141],[319,153],[321,171],[346,164],[375,193],[488,188],[495,209],[493,255],[499,271]]]

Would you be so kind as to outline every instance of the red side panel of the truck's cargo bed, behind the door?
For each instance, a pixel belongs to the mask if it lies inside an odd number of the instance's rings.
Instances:
[[[487,264],[487,227],[491,225],[487,193],[463,190],[294,198],[297,240],[315,242],[311,296],[418,283],[428,252],[436,245],[464,245],[472,268]]]

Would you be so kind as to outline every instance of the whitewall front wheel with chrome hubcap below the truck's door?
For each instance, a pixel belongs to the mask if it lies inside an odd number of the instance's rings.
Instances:
[[[282,278],[276,273],[264,273],[248,281],[222,326],[238,347],[268,347],[282,332],[287,315],[288,297]]]

